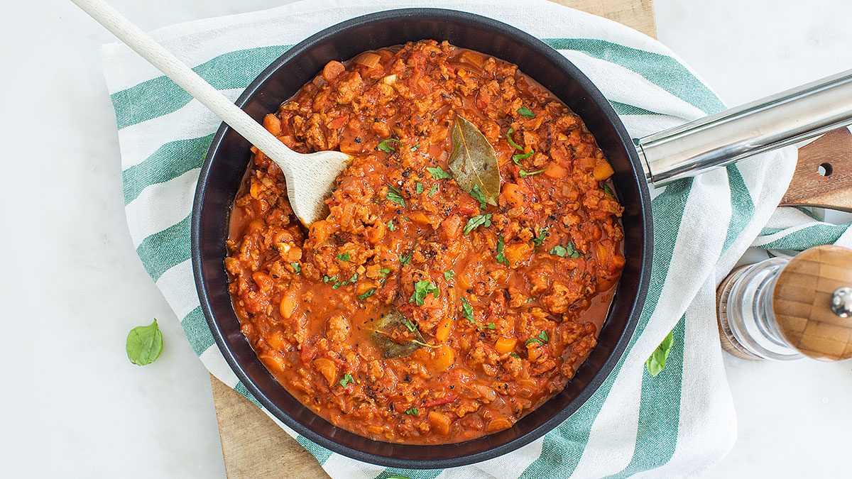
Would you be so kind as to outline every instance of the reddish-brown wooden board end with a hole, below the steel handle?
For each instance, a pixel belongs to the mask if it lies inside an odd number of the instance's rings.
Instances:
[[[799,148],[796,172],[781,205],[852,212],[852,133],[838,128]]]

